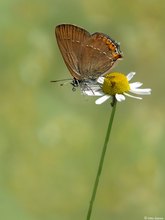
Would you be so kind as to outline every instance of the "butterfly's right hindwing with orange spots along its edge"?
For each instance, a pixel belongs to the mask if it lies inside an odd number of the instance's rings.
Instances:
[[[94,33],[81,47],[79,71],[81,77],[96,79],[107,73],[122,58],[119,44],[109,36]]]

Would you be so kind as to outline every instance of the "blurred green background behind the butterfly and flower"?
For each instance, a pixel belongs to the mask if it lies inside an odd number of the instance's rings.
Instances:
[[[69,77],[60,23],[116,39],[114,70],[152,88],[117,106],[91,219],[165,218],[165,1],[1,0],[0,219],[86,217],[111,106],[50,83]]]

